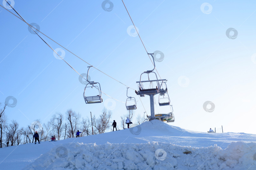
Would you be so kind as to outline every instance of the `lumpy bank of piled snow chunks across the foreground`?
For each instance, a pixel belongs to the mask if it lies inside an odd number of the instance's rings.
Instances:
[[[191,151],[184,154],[184,151]],[[69,143],[41,155],[26,170],[65,169],[256,169],[256,143],[231,143],[225,150],[149,142],[104,145]]]

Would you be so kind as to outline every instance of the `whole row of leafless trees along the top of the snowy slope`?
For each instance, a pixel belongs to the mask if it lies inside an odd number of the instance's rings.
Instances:
[[[77,130],[82,132],[80,136],[102,134],[111,128],[112,123],[110,121],[112,112],[104,107],[97,118],[95,115],[92,119],[83,118],[79,113],[69,109],[64,114],[56,112],[47,123],[41,124],[40,120],[37,119],[26,127],[20,128],[16,120],[11,120],[10,123],[7,122],[6,106],[6,103],[3,106],[0,103],[0,148],[33,143],[33,135],[36,131],[39,134],[40,141],[50,140],[52,136],[55,136],[57,140],[63,140],[76,137]],[[133,111],[121,116],[121,127],[123,129],[126,128],[126,118],[131,119],[132,116]],[[143,119],[138,115],[136,123],[140,124],[142,122]]]

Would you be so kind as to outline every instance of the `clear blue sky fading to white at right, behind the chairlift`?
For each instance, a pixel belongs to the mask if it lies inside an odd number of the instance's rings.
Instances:
[[[122,1],[112,1],[109,12],[103,10],[103,1],[11,2],[28,23],[36,23],[47,36],[133,89],[137,89],[140,74],[153,68],[135,30],[127,31],[132,23]],[[147,51],[164,54],[156,69],[168,80],[175,115],[170,124],[196,131],[223,126],[224,132],[255,134],[256,2],[124,2]],[[9,120],[27,126],[35,119],[46,122],[55,112],[65,113],[70,108],[82,117],[89,117],[90,112],[97,116],[106,106],[112,109],[111,120],[120,124],[120,115],[127,113],[123,103],[126,86],[91,68],[91,80],[123,102],[103,94],[103,103],[85,104],[85,85],[79,82],[79,75],[55,58],[24,22],[2,7],[0,11],[0,101],[8,96],[17,100],[15,107],[6,109]],[[229,28],[237,31],[233,39],[226,35]],[[231,38],[233,34],[228,33]],[[42,37],[53,49],[62,48]],[[70,65],[80,74],[87,73],[88,64],[64,51]],[[128,96],[139,100],[134,90],[129,90]],[[213,112],[204,110],[206,101],[214,103]],[[149,113],[149,96],[142,102]],[[143,116],[140,101],[137,108],[136,115]],[[155,106],[155,112],[168,113],[169,108]]]

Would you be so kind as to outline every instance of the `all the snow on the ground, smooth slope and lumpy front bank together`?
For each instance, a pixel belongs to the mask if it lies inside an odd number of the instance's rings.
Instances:
[[[0,153],[1,169],[253,170],[256,135],[194,132],[153,120],[104,134],[10,146]]]

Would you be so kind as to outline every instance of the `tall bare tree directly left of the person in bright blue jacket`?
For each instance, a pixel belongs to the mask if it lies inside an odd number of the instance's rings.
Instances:
[[[67,118],[69,121],[69,126],[68,126],[68,133],[69,133],[69,137],[72,136],[72,138],[74,137],[75,131],[78,128],[78,124],[79,124],[79,119],[80,119],[80,115],[79,113],[76,113],[74,111],[72,111],[71,109],[68,110],[66,112],[67,114]]]

